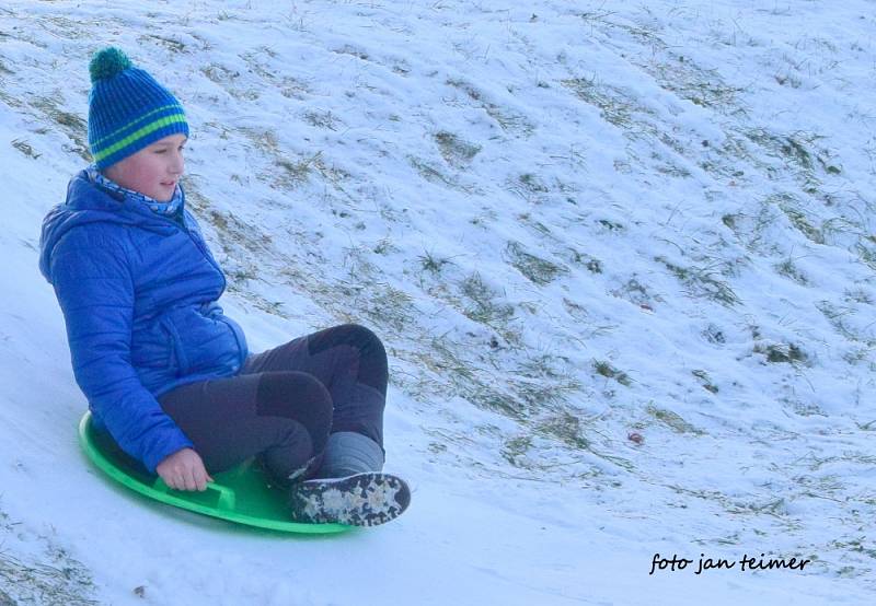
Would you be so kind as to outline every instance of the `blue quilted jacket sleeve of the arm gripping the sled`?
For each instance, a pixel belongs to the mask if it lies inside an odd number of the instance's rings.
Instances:
[[[67,325],[73,374],[118,445],[154,473],[192,442],[143,387],[130,361],[134,281],[124,246],[99,225],[64,235],[50,273]]]

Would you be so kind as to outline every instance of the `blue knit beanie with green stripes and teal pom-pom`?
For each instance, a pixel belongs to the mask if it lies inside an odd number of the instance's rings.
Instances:
[[[99,170],[169,135],[188,137],[176,97],[118,48],[95,53],[89,71],[89,147]]]

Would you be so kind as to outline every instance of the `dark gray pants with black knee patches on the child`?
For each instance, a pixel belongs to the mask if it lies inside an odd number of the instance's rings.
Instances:
[[[383,447],[387,352],[368,328],[344,324],[246,359],[235,376],[182,385],[159,398],[210,473],[250,457],[277,479],[312,477],[330,433]]]

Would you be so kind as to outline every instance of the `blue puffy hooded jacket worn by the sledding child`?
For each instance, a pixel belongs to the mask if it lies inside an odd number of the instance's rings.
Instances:
[[[185,228],[82,171],[46,215],[39,243],[39,270],[55,288],[95,421],[152,473],[192,446],[157,398],[233,375],[247,354],[240,326],[216,302],[226,279],[185,203],[183,218]]]

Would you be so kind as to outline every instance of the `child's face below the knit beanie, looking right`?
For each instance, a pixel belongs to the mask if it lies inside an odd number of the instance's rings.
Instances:
[[[185,171],[185,135],[164,137],[116,162],[104,171],[104,175],[122,187],[139,191],[159,202],[169,202]]]

